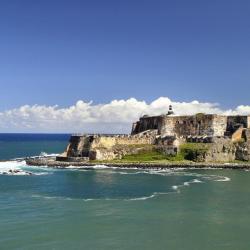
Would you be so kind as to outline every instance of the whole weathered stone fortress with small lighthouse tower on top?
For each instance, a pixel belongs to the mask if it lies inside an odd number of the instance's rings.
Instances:
[[[250,116],[199,113],[177,116],[144,115],[133,123],[130,135],[72,135],[61,161],[112,160],[155,147],[176,155],[185,143],[206,144],[202,161],[250,160]]]

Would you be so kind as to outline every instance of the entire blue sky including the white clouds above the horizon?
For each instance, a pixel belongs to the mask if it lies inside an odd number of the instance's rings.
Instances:
[[[249,13],[248,0],[1,0],[0,132],[122,132],[171,102],[250,113]]]

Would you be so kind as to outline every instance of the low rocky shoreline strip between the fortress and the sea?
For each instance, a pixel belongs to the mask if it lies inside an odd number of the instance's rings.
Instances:
[[[139,169],[166,169],[166,168],[214,168],[214,169],[250,169],[250,162],[242,163],[216,163],[216,162],[134,162],[134,163],[121,163],[121,162],[105,162],[105,163],[94,163],[94,162],[62,162],[56,161],[55,158],[36,158],[26,159],[26,164],[30,166],[48,166],[53,168],[87,168],[96,165],[103,165],[109,167],[121,167],[121,168],[139,168]]]

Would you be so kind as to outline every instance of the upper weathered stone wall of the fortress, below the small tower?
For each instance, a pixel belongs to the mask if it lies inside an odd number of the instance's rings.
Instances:
[[[250,127],[250,116],[223,116],[197,114],[193,116],[142,117],[133,124],[132,134],[157,129],[162,136],[212,136],[221,137],[228,131],[233,134],[239,128]]]

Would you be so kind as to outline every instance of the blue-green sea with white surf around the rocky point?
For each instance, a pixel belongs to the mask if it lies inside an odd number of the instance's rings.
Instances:
[[[0,134],[0,249],[249,250],[250,172],[35,167],[68,134]]]

